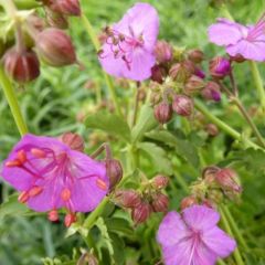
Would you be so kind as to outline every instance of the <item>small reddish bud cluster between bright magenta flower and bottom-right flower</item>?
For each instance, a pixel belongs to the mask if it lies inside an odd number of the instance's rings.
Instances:
[[[152,212],[167,212],[169,199],[162,193],[168,186],[168,178],[156,176],[145,183],[141,192],[136,190],[117,190],[114,201],[119,206],[131,211],[131,219],[136,224],[146,222]]]

